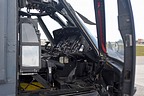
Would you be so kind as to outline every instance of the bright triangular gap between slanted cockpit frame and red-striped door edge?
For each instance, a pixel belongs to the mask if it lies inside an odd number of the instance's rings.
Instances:
[[[79,19],[79,21],[81,22],[83,27],[87,30],[92,41],[98,48],[93,0],[90,0],[90,1],[88,1],[88,0],[67,0],[67,2],[71,4],[73,9],[75,10],[75,14],[76,14],[77,18]],[[79,6],[79,4],[82,4],[82,6]],[[84,20],[81,18],[81,16],[78,13],[80,13],[85,18],[87,18],[90,22],[95,23],[95,24],[85,23]]]

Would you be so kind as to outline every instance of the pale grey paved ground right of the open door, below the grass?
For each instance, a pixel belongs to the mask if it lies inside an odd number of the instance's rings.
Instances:
[[[136,60],[135,86],[137,92],[134,96],[144,96],[144,56],[137,56]]]

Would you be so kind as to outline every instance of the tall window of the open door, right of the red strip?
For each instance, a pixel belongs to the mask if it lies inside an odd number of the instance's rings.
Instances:
[[[107,53],[110,57],[124,61],[124,44],[118,29],[117,0],[112,2],[105,0]]]

